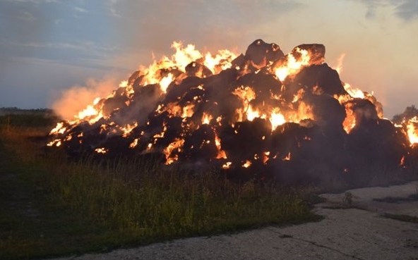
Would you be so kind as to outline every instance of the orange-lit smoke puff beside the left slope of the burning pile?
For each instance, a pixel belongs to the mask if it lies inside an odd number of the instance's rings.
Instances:
[[[61,97],[52,104],[52,109],[64,120],[71,120],[97,97],[107,97],[116,87],[117,80],[114,78],[89,78],[85,86],[75,85],[62,91]]]

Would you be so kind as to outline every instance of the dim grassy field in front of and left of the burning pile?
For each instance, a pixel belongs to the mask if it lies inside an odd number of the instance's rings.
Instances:
[[[50,113],[0,116],[0,259],[103,252],[314,221],[306,194],[152,160],[74,162],[44,149]],[[306,192],[306,191],[305,191]]]

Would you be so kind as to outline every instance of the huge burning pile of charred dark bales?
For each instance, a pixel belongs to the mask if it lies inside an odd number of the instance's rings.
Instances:
[[[213,165],[237,178],[357,178],[364,166],[405,167],[410,121],[383,119],[376,98],[340,80],[322,44],[285,55],[261,39],[239,56],[176,53],[56,125],[49,147],[71,156],[162,156],[166,164]],[[418,120],[413,121],[418,122]],[[416,123],[414,123],[416,125]],[[409,135],[411,138],[411,134]]]

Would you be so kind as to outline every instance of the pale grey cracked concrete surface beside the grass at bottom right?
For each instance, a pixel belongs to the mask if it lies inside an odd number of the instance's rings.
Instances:
[[[418,223],[385,218],[382,213],[418,216],[417,201],[378,202],[417,194],[418,182],[350,190],[355,199],[343,205],[342,194],[323,194],[327,202],[314,211],[324,219],[288,227],[268,227],[232,235],[191,237],[85,254],[61,260],[111,259],[402,259],[418,260]]]

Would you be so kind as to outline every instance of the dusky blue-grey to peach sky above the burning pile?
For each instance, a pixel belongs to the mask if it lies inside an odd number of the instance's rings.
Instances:
[[[417,32],[416,0],[0,0],[0,107],[84,106],[174,41],[240,54],[263,39],[324,44],[333,68],[345,54],[341,80],[392,118],[418,105]]]

